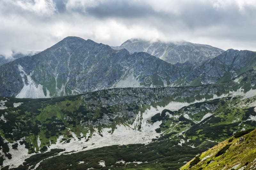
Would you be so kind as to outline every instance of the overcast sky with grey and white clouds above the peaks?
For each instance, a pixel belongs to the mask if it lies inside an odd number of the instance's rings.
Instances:
[[[0,23],[6,56],[67,36],[110,46],[143,38],[256,51],[256,0],[0,0]]]

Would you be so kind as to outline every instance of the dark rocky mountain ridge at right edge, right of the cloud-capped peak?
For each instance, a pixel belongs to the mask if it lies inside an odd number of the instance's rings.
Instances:
[[[204,61],[189,73],[183,85],[227,82],[256,66],[256,52],[229,49],[219,56]]]

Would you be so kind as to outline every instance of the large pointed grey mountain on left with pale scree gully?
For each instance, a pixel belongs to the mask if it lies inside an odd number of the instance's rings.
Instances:
[[[38,98],[113,87],[167,86],[192,67],[67,37],[41,53],[2,65],[0,96]]]

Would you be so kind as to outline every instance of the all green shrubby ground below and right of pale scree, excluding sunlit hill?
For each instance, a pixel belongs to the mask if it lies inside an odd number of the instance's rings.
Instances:
[[[235,131],[255,128],[255,121],[248,120],[255,116],[255,112],[252,107],[247,106],[254,101],[253,97],[250,100],[227,97],[191,104],[175,112],[163,110],[151,118],[152,123],[162,120],[159,131],[163,133],[148,145],[107,146],[71,155],[62,154],[45,159],[38,168],[51,169],[52,165],[56,165],[59,169],[177,169],[196,154],[217,144],[212,140],[221,142],[233,136]],[[208,112],[212,112],[212,116],[200,122]],[[189,119],[182,116],[185,113],[189,115]],[[42,159],[32,156],[25,160],[22,167],[35,166]],[[101,160],[105,161],[105,167],[99,165]],[[120,160],[143,163],[116,163]],[[80,163],[81,161],[84,163]]]

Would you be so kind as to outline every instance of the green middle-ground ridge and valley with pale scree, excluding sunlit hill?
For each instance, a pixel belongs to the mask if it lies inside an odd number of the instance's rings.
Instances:
[[[197,87],[1,97],[0,166],[177,169],[234,133],[256,127],[255,75],[254,70],[237,82]],[[241,90],[245,85],[250,90]]]

